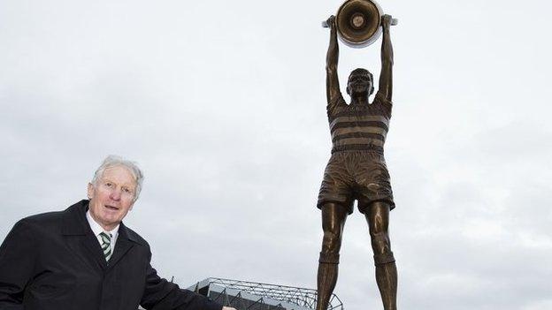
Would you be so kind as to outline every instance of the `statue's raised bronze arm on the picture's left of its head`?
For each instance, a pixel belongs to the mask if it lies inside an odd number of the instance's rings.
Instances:
[[[326,95],[327,102],[333,104],[338,96],[341,95],[339,88],[339,79],[337,78],[337,60],[339,58],[339,46],[337,44],[337,28],[335,26],[335,16],[327,19],[327,25],[330,27],[330,45],[326,55]]]

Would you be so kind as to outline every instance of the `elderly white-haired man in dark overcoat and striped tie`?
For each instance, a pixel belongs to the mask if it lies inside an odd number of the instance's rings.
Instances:
[[[16,223],[0,247],[0,309],[223,308],[157,276],[148,243],[122,223],[142,179],[134,163],[109,156],[89,200]]]

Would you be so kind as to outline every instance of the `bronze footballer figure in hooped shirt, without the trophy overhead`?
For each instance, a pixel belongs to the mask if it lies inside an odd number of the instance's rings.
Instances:
[[[389,211],[395,208],[389,173],[383,155],[391,117],[393,49],[389,28],[395,22],[381,16],[380,86],[372,103],[372,73],[356,69],[349,75],[343,99],[337,77],[339,48],[335,17],[326,20],[330,27],[330,45],[326,58],[327,115],[332,134],[332,156],[327,163],[318,194],[322,210],[324,239],[318,262],[317,310],[326,310],[337,282],[341,234],[347,215],[353,212],[354,200],[364,214],[372,238],[376,282],[385,310],[396,309],[397,271],[387,228]]]

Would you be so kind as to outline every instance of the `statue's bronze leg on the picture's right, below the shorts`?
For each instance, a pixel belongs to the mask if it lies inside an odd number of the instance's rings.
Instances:
[[[370,227],[370,238],[372,239],[374,263],[376,265],[376,282],[380,289],[383,308],[385,310],[396,310],[397,270],[387,232],[390,207],[387,202],[375,201],[364,209],[364,215]]]

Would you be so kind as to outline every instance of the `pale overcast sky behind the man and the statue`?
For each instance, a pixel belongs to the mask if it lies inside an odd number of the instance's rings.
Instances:
[[[125,223],[184,287],[316,286],[339,0],[0,0],[0,239],[86,198],[106,155],[145,172]],[[399,308],[552,308],[552,46],[543,0],[381,0],[399,19],[386,156]],[[380,72],[380,41],[341,44]],[[343,89],[343,94],[344,89]],[[381,308],[364,217],[335,293]]]

